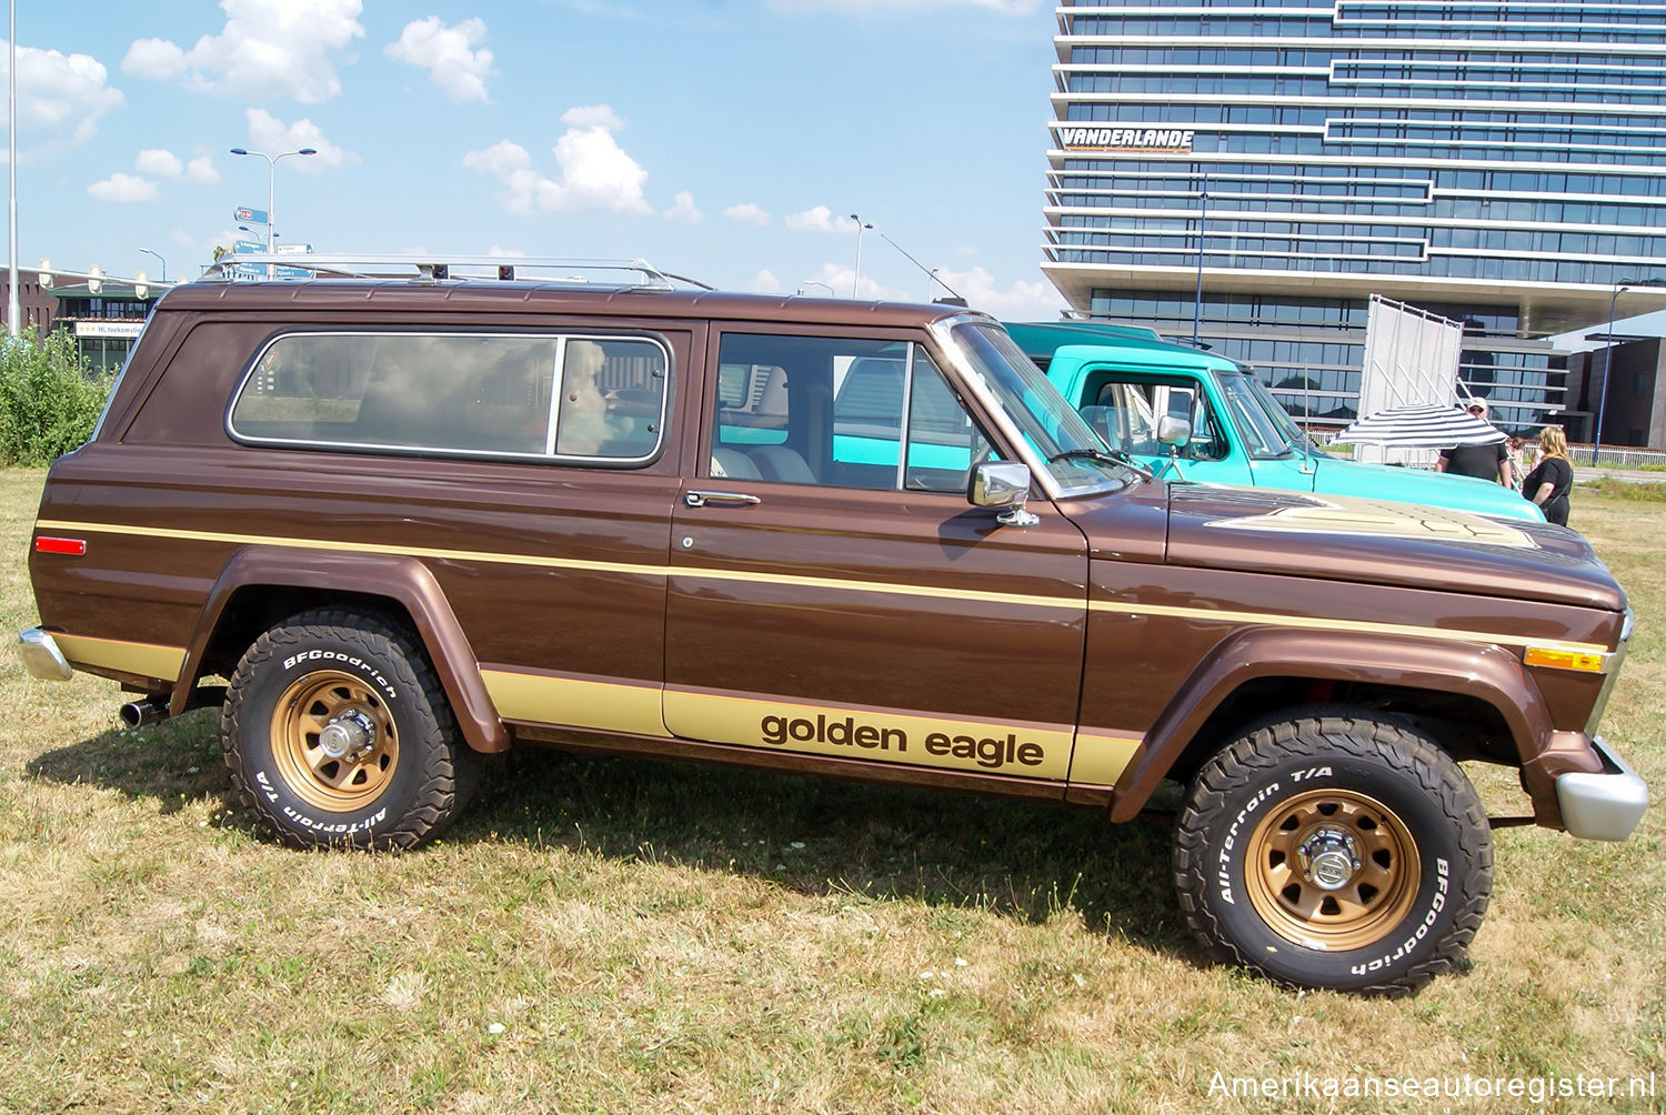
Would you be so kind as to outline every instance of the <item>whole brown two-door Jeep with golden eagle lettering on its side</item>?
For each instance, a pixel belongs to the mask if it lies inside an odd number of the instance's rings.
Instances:
[[[132,723],[220,705],[292,845],[415,845],[525,743],[1111,820],[1171,778],[1218,957],[1401,992],[1488,903],[1458,760],[1576,837],[1648,805],[1576,533],[1151,480],[955,307],[308,263],[158,303],[47,478],[22,637]]]

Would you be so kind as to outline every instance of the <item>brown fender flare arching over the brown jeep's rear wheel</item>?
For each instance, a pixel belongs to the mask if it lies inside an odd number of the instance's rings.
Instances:
[[[203,603],[185,655],[185,667],[170,698],[170,713],[178,715],[190,700],[190,690],[202,672],[203,655],[225,612],[227,602],[240,588],[270,585],[273,588],[312,588],[318,592],[352,592],[383,597],[405,608],[421,638],[440,685],[451,702],[463,740],[476,752],[506,752],[508,728],[480,677],[480,663],[451,612],[440,582],[426,565],[410,557],[380,553],[325,553],[285,547],[243,547],[220,570],[208,600]]]

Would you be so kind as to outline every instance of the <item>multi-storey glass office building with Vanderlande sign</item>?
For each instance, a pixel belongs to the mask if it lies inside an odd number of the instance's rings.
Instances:
[[[1379,293],[1464,322],[1499,425],[1589,440],[1546,338],[1666,277],[1666,3],[1065,0],[1058,25],[1043,270],[1073,307],[1196,330],[1346,422]]]

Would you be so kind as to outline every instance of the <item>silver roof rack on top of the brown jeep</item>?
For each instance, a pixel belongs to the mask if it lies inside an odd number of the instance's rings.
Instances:
[[[635,278],[626,278],[633,275]],[[493,278],[620,290],[675,290],[675,282],[711,290],[706,283],[661,272],[646,260],[561,260],[498,255],[315,255],[302,252],[238,252],[215,260],[207,282],[307,278],[405,278],[420,283]]]

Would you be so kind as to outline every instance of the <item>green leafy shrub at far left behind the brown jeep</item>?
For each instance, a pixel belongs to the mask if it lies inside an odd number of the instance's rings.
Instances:
[[[58,330],[35,347],[0,340],[0,460],[47,465],[92,437],[112,377],[93,375]]]

